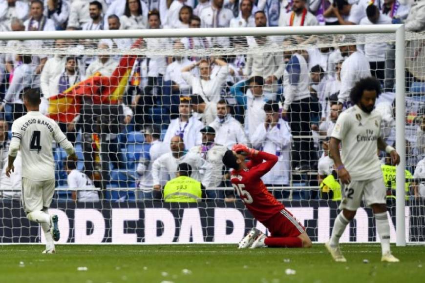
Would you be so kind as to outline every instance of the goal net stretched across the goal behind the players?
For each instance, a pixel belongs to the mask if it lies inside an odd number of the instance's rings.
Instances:
[[[59,216],[60,243],[237,243],[252,227],[266,232],[221,161],[235,143],[278,156],[263,182],[313,242],[327,241],[346,194],[333,177],[327,145],[338,102],[350,106],[356,80],[379,80],[381,134],[390,145],[398,135],[395,35],[251,31],[127,39],[61,32],[57,39],[3,40],[0,242],[44,241],[21,206],[19,154],[12,177],[5,175],[11,125],[25,113],[22,95],[29,89],[40,91],[40,111],[58,122],[78,155],[71,162],[60,147],[52,152],[56,190],[49,210]],[[406,90],[404,235],[408,243],[423,243],[425,34],[405,33],[405,39],[405,72],[397,70]],[[394,242],[396,169],[384,152],[379,157]],[[195,182],[165,187],[178,170],[180,176],[191,171],[205,189]],[[362,204],[341,242],[378,241],[372,211]]]

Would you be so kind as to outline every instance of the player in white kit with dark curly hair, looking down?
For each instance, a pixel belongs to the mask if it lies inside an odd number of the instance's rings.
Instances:
[[[399,262],[390,251],[386,189],[377,149],[390,154],[395,165],[399,164],[400,156],[381,138],[382,118],[374,111],[375,101],[380,94],[381,84],[375,78],[368,77],[358,81],[350,92],[354,106],[340,114],[331,135],[329,150],[340,181],[345,185],[340,204],[342,211],[335,219],[331,239],[325,243],[336,262],[346,262],[340,251],[339,240],[347,224],[356,215],[362,198],[372,208],[375,216],[381,238],[382,261]]]

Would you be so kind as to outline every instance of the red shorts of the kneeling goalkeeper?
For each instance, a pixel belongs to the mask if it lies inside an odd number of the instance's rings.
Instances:
[[[305,231],[304,226],[286,209],[282,209],[263,224],[269,229],[271,237],[298,237]]]

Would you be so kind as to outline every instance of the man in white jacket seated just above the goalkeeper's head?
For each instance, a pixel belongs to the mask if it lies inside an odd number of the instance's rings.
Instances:
[[[230,106],[225,99],[217,102],[217,117],[210,124],[215,130],[216,144],[231,149],[235,143],[248,144],[242,124],[231,115]]]

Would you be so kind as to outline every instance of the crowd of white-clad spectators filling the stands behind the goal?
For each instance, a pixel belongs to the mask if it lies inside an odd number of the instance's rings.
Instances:
[[[425,0],[0,0],[0,32],[392,23],[404,23],[406,31],[425,31]],[[349,37],[345,42],[353,42]],[[129,49],[133,41],[55,40],[54,46]],[[394,45],[347,43],[284,51],[282,42],[266,36],[144,39],[148,49],[267,45],[281,51],[221,57],[184,57],[178,52],[174,57],[138,57],[125,95],[116,109],[108,109],[106,120],[99,114],[102,109],[95,110],[95,103],[85,97],[81,115],[71,122],[59,122],[80,160],[64,161],[62,152],[55,151],[58,186],[96,186],[104,191],[139,187],[134,197],[152,200],[156,191],[176,176],[177,165],[185,163],[191,168],[191,178],[207,188],[207,198],[231,201],[235,198],[232,190],[213,188],[229,186],[221,159],[235,143],[243,143],[279,157],[263,177],[277,198],[287,198],[285,187],[295,183],[321,184],[325,188],[322,192],[329,192],[332,188],[323,180],[334,168],[327,139],[340,112],[350,105],[350,90],[359,79],[373,76],[381,82],[383,95],[376,109],[383,115],[386,142],[395,141]],[[42,43],[8,40],[0,44],[13,49]],[[0,188],[21,186],[19,178],[6,180],[3,173],[11,123],[25,111],[22,93],[38,89],[40,111],[47,115],[49,98],[94,74],[111,76],[119,61],[117,55],[0,53]],[[423,79],[408,71],[406,74],[407,90],[411,82]],[[116,120],[111,118],[114,111],[119,114]],[[406,147],[406,166],[415,178],[422,179],[425,120],[417,119],[416,123],[417,140]],[[116,129],[110,124],[116,124]],[[11,197],[17,192],[2,194]],[[413,189],[410,194],[419,193]],[[301,198],[323,196],[309,193]],[[128,194],[115,197],[126,198]],[[72,194],[72,199],[99,200],[97,194],[84,191]]]

